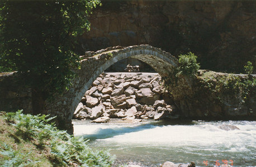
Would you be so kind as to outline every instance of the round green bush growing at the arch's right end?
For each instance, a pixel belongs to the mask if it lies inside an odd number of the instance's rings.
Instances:
[[[179,67],[177,75],[192,77],[199,70],[200,65],[196,61],[197,56],[189,52],[187,55],[179,55]]]

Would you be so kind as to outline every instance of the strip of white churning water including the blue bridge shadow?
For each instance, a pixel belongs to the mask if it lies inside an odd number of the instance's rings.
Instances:
[[[166,125],[166,126],[138,126],[115,124],[75,124],[74,135],[102,136],[112,135],[102,141],[122,144],[154,144],[172,146],[212,146],[225,145],[241,146],[245,142],[255,146],[256,125],[236,125],[240,130],[225,131],[216,125]]]

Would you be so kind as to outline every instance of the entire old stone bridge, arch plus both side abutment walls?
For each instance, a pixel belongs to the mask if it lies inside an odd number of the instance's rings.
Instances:
[[[179,66],[177,58],[170,53],[149,45],[117,46],[97,52],[86,52],[86,55],[81,56],[81,68],[74,71],[77,73],[77,77],[72,81],[70,89],[64,92],[63,95],[56,96],[54,101],[46,102],[44,114],[57,116],[58,120],[56,122],[72,133],[72,116],[85,92],[103,71],[113,65],[113,63],[127,57],[134,57],[147,63],[160,76],[169,78],[170,80],[174,80],[174,78],[171,78],[172,75],[170,75],[173,68]],[[198,73],[201,72],[198,71]],[[227,76],[228,74],[214,72],[215,77],[219,75]],[[212,78],[212,80],[215,80],[215,78]],[[2,95],[0,97],[0,110],[12,111],[24,109],[25,112],[31,112],[31,91],[23,90],[23,87],[17,86],[18,84],[16,86],[8,86],[8,83],[14,83],[11,75],[10,77],[0,75],[0,84],[3,84],[3,82],[7,84],[0,86],[0,93]],[[241,103],[243,99],[240,98],[240,95],[234,92],[232,96],[225,96],[224,94],[225,97],[222,98],[222,102],[218,103],[215,100],[215,96],[198,89],[198,87],[200,85],[195,84],[195,80],[183,76],[179,77],[176,84],[172,85],[172,98],[184,116],[252,115],[248,111],[253,111],[253,115],[255,115],[255,97],[250,99],[250,105],[244,105]],[[198,96],[198,92],[202,96],[201,99]]]

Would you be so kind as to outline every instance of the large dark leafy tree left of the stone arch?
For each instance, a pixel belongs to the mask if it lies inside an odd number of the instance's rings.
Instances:
[[[32,89],[32,110],[63,92],[78,68],[75,37],[89,30],[99,0],[0,0],[0,70],[17,71]],[[1,71],[0,71],[1,72]]]

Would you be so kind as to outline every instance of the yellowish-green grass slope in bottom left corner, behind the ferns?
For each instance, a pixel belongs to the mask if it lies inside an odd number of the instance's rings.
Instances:
[[[0,114],[0,165],[1,166],[19,166],[21,164],[28,166],[53,166],[49,160],[50,151],[48,148],[39,149],[35,143],[36,140],[25,140],[17,136],[17,129],[10,125],[4,119],[4,112]],[[9,154],[8,154],[9,152]],[[4,154],[5,153],[5,154]],[[13,156],[16,159],[13,160]]]

